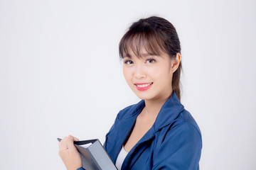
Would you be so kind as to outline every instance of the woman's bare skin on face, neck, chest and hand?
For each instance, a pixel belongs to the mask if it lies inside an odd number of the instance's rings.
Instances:
[[[132,51],[131,57],[124,56],[123,73],[124,78],[134,93],[145,101],[145,107],[137,116],[134,129],[129,139],[124,144],[124,149],[129,152],[134,145],[145,135],[156,120],[161,107],[171,96],[171,79],[178,69],[181,55],[177,53],[176,59],[171,60],[169,55],[162,52],[159,56],[149,55],[142,49],[142,57],[136,57]],[[151,88],[146,91],[139,91],[137,83],[151,83]],[[67,170],[76,170],[82,167],[82,160],[78,150],[74,146],[77,138],[69,135],[59,142],[59,155]]]

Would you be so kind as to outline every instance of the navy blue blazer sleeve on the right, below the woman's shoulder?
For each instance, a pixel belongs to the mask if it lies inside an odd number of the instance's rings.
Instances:
[[[176,125],[166,132],[156,149],[152,169],[199,169],[201,148],[201,132],[193,124]]]

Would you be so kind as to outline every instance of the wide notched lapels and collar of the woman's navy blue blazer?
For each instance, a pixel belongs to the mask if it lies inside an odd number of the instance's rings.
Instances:
[[[139,101],[139,103],[132,106],[132,108],[130,108],[129,111],[127,111],[126,115],[124,115],[124,118],[120,120],[117,128],[118,138],[114,146],[112,146],[112,151],[110,153],[113,156],[113,162],[116,161],[117,155],[119,154],[122,145],[127,140],[127,137],[129,137],[129,134],[132,132],[137,116],[139,115],[139,113],[141,113],[144,106],[144,100]],[[156,117],[154,125],[149,129],[148,132],[146,132],[142,139],[139,140],[137,145],[135,145],[134,148],[129,152],[129,155],[131,152],[134,152],[134,149],[137,146],[142,145],[144,142],[151,140],[154,137],[155,132],[161,130],[161,128],[164,128],[164,126],[172,123],[174,119],[178,117],[178,114],[181,113],[181,111],[183,111],[183,105],[180,103],[180,101],[178,101],[178,97],[176,96],[176,93],[173,91],[170,98],[161,107],[161,110],[159,111],[159,114]]]

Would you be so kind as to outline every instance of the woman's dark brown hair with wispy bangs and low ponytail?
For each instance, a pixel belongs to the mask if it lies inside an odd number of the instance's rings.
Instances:
[[[129,49],[134,55],[141,57],[142,47],[150,55],[161,55],[166,52],[172,59],[176,58],[177,53],[181,53],[181,45],[178,34],[174,26],[164,18],[151,16],[142,18],[129,27],[119,42],[119,56],[130,57]],[[181,101],[180,89],[181,62],[172,78],[172,88]]]

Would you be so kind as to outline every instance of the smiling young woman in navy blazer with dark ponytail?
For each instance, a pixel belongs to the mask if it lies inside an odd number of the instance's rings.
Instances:
[[[119,43],[124,77],[142,99],[117,115],[104,147],[118,169],[199,169],[201,132],[180,103],[181,46],[174,26],[151,16],[132,24]],[[73,145],[59,144],[68,170],[82,169]]]

